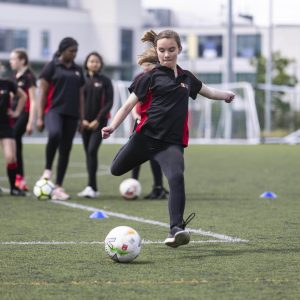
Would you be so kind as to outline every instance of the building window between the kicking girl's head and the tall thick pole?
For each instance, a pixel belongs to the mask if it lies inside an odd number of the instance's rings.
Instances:
[[[203,58],[222,57],[223,45],[221,35],[199,36],[198,55]]]

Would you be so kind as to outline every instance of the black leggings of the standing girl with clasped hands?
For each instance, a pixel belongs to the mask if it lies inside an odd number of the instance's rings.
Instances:
[[[102,142],[101,128],[106,126],[107,121],[101,122],[96,130],[83,130],[82,140],[88,171],[88,186],[97,191],[96,174],[98,170],[98,149]]]

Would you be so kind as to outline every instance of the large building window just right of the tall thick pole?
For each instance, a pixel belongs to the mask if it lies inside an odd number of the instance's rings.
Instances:
[[[259,34],[246,34],[237,36],[237,57],[252,58],[261,53],[261,36]]]

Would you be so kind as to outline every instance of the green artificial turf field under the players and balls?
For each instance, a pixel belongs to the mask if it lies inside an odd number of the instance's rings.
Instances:
[[[66,204],[82,206],[0,196],[0,299],[300,299],[299,146],[186,149],[185,215],[196,213],[188,226],[195,232],[177,249],[161,243],[168,229],[151,223],[168,223],[166,200],[120,197],[118,186],[130,174],[109,175],[119,147],[100,149],[101,196],[89,200],[76,197],[86,171],[82,146],[74,145]],[[44,148],[24,145],[31,187],[42,173]],[[7,187],[2,157],[0,185]],[[141,169],[143,195],[152,185],[148,165]],[[278,197],[260,198],[265,191]],[[86,207],[109,218],[91,219]],[[119,225],[145,240],[129,264],[104,252],[106,234]]]

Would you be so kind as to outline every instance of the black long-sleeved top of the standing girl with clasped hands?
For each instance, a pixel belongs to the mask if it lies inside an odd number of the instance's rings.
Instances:
[[[111,80],[103,74],[96,73],[87,76],[84,85],[84,119],[107,120],[113,105],[113,85]]]

